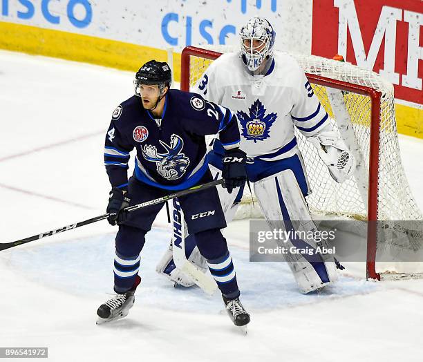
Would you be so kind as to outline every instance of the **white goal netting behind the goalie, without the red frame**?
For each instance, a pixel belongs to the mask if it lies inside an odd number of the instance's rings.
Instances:
[[[211,50],[219,53],[233,51],[229,47],[213,47]],[[364,70],[352,64],[316,56],[295,55],[290,53],[301,65],[305,73],[321,75],[337,79],[348,84],[358,84],[373,88],[382,93],[380,104],[379,127],[379,160],[378,160],[378,220],[423,220],[422,212],[412,196],[402,167],[400,146],[397,138],[395,122],[393,85],[386,82],[376,73]],[[189,85],[192,87],[203,77],[213,60],[203,57],[190,57]],[[319,97],[335,126],[337,117],[330,103],[326,86],[313,83],[309,77],[314,93]],[[371,99],[367,95],[343,91],[341,97],[350,124],[353,126],[355,143],[361,153],[361,175],[355,175],[351,180],[339,184],[335,182],[328,168],[317,153],[317,150],[296,130],[299,149],[303,155],[312,193],[307,201],[310,211],[318,215],[352,216],[367,219],[368,169],[370,155],[370,122]],[[363,174],[364,173],[364,174]],[[361,180],[359,180],[361,179]],[[254,197],[254,196],[253,196]],[[261,215],[258,209],[253,209],[251,196],[245,192],[243,206],[238,211],[238,218],[256,218]],[[257,202],[254,202],[257,205]]]

